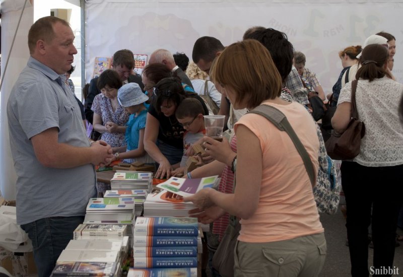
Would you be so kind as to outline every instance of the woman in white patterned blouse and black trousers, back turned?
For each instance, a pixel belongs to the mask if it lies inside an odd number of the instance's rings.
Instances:
[[[371,223],[374,245],[371,269],[393,268],[398,209],[403,201],[403,128],[398,115],[403,85],[387,77],[387,61],[388,49],[384,45],[369,44],[361,52],[361,66],[356,75],[356,106],[366,132],[360,154],[353,160],[343,161],[341,166],[353,276],[369,275]],[[339,133],[346,130],[351,119],[351,91],[350,82],[340,92],[331,119]]]

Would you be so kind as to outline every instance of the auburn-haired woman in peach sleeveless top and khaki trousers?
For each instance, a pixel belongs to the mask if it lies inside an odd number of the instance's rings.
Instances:
[[[211,76],[235,109],[269,105],[282,111],[317,173],[315,123],[299,103],[280,98],[282,79],[262,44],[256,40],[231,44],[218,57]],[[291,138],[257,114],[242,116],[235,133],[234,193],[206,188],[184,200],[201,210],[228,212],[241,219],[235,276],[317,276],[326,241],[311,181]],[[209,213],[201,212],[200,219],[210,222]]]

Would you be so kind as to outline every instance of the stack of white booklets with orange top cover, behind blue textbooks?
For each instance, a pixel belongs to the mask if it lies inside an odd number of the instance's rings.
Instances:
[[[195,209],[192,202],[184,202],[183,199],[167,197],[168,191],[161,190],[149,193],[144,202],[145,217],[188,217],[189,211]],[[209,224],[198,224],[203,232],[210,231]]]

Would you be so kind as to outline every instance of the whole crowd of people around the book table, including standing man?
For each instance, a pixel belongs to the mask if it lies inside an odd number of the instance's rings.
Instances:
[[[39,276],[50,275],[83,222],[88,199],[110,189],[96,182],[95,166],[115,160],[153,164],[156,178],[220,175],[216,189],[184,200],[196,206],[191,216],[213,224],[211,258],[231,217],[239,220],[238,242],[228,250],[234,253],[231,275],[318,276],[326,240],[312,193],[315,183],[289,135],[248,111],[280,110],[316,175],[324,140],[308,95],[328,98],[329,106],[337,107],[331,124],[343,133],[352,116],[353,80],[358,80],[356,104],[366,134],[360,154],[341,167],[351,273],[369,276],[369,233],[371,266],[393,268],[396,228],[403,228],[403,85],[392,74],[392,35],[380,32],[362,47],[341,50],[344,68],[327,95],[305,67],[305,55],[271,28],[252,27],[227,47],[217,38],[200,37],[190,62],[183,53],[157,49],[141,76],[133,74],[133,53],[122,49],[114,53],[112,68],[86,86],[83,107],[68,81],[77,53],[73,41],[64,20],[37,20],[28,34],[31,56],[7,106],[18,175],[17,223],[33,242]],[[213,103],[228,122],[222,142],[204,135],[203,116],[214,113]],[[92,124],[91,140],[84,115]],[[195,156],[198,167],[187,171],[193,144],[205,154]],[[228,273],[213,267],[211,272]]]

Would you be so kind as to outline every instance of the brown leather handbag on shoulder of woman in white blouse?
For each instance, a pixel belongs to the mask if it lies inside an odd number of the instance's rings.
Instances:
[[[347,129],[339,134],[332,131],[330,138],[326,141],[327,155],[333,160],[351,160],[360,153],[361,138],[365,135],[364,122],[358,118],[356,104],[357,80],[351,85],[351,120]]]

